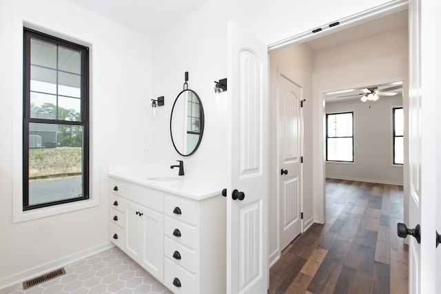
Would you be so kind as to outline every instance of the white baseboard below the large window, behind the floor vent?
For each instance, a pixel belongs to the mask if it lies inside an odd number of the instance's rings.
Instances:
[[[41,264],[41,266],[30,268],[27,271],[22,271],[21,273],[16,273],[14,275],[10,275],[9,277],[4,277],[0,279],[0,289],[12,286],[17,283],[21,283],[24,280],[28,280],[32,277],[38,277],[39,275],[43,275],[48,271],[53,271],[61,266],[66,266],[68,264],[71,264],[72,262],[76,262],[79,259],[94,255],[112,247],[114,247],[114,244],[112,242],[105,242],[104,244],[86,249],[85,251],[81,251],[79,253],[74,253],[72,255],[53,260],[52,262],[48,262],[47,264]]]

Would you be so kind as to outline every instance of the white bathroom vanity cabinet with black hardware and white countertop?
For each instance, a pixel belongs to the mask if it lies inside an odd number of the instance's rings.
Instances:
[[[226,199],[218,182],[209,184],[219,177],[149,182],[136,168],[109,175],[112,242],[173,293],[226,293]]]

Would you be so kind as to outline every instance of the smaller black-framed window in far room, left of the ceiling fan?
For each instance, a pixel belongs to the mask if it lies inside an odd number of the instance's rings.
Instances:
[[[353,162],[353,112],[326,115],[326,160]]]

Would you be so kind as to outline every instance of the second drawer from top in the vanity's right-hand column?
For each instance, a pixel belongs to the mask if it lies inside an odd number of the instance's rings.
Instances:
[[[164,222],[164,234],[170,239],[179,242],[191,249],[196,249],[196,244],[198,244],[197,232],[194,226],[178,222],[176,219],[171,217],[165,217]],[[180,237],[176,235],[181,235]]]

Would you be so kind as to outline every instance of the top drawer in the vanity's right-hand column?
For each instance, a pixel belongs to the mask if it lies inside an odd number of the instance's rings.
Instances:
[[[196,204],[177,197],[165,197],[164,212],[189,224],[196,224],[198,218]]]

